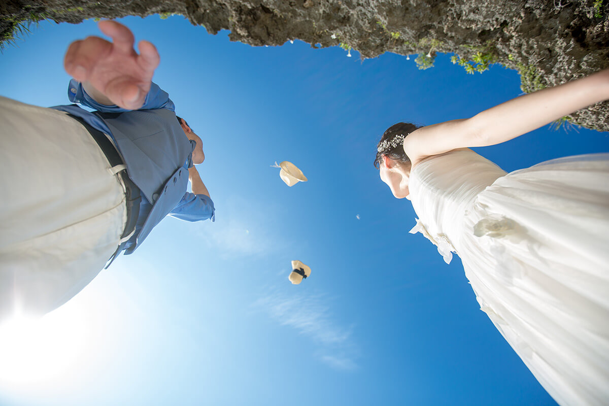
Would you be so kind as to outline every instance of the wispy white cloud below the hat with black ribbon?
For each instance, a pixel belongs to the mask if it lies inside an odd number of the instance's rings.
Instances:
[[[281,326],[310,337],[320,346],[316,355],[322,362],[336,369],[357,368],[353,360],[357,352],[351,338],[353,326],[344,327],[333,321],[324,295],[274,292],[258,299],[253,306],[264,310]]]

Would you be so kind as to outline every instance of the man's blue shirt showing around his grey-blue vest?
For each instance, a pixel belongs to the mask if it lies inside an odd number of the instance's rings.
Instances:
[[[129,111],[116,105],[107,106],[97,103],[85,92],[85,89],[82,88],[82,84],[74,79],[70,80],[68,86],[68,99],[72,103],[79,103],[94,110],[104,111],[107,113],[122,113],[124,111]],[[51,108],[66,111],[66,113],[81,117],[87,124],[91,125],[91,127],[102,131],[102,133],[105,133],[114,139],[110,128],[108,128],[108,125],[105,124],[104,120],[90,111],[84,110],[76,105],[62,105]],[[139,110],[153,110],[157,108],[166,108],[167,110],[175,111],[174,102],[169,99],[169,94],[163,91],[163,89],[161,89],[156,83],[152,83],[150,86],[150,91],[146,95],[146,100],[144,100],[144,105]],[[151,209],[152,204],[146,199],[146,197],[144,197],[144,195],[142,195],[142,201],[139,206],[138,220],[135,226],[135,234],[125,244],[124,249],[131,247],[136,242],[136,236],[139,234],[139,230],[144,225],[144,221],[148,217]],[[169,212],[169,215],[188,222],[198,222],[200,220],[207,219],[211,219],[211,221],[216,220],[213,200],[211,200],[211,198],[207,195],[197,195],[189,192],[184,194],[180,200],[180,203],[178,203],[175,208]]]

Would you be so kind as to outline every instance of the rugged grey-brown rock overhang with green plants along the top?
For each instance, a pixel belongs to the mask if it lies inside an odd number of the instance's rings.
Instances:
[[[340,45],[364,58],[418,54],[420,68],[437,52],[454,53],[471,72],[490,63],[517,69],[524,91],[582,77],[609,66],[609,0],[5,0],[4,40],[19,23],[52,19],[178,14],[233,41],[280,45],[303,40]],[[470,68],[468,68],[470,66]],[[464,71],[465,74],[465,71]],[[609,130],[609,103],[569,117]]]

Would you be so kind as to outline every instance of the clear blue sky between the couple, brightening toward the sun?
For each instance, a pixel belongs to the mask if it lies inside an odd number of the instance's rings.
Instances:
[[[154,80],[203,139],[217,220],[163,220],[15,348],[4,329],[0,405],[555,404],[479,310],[459,258],[446,265],[407,233],[412,207],[372,166],[389,125],[473,116],[521,94],[515,71],[252,47],[181,16],[121,21],[157,45]],[[97,27],[32,31],[0,55],[0,94],[68,103],[63,52]],[[511,171],[609,152],[609,138],[541,128],[477,152]],[[309,181],[287,187],[270,167],[284,160]],[[292,259],[312,268],[301,285]]]

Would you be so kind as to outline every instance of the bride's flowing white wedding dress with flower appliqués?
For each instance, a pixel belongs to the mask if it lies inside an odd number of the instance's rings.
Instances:
[[[609,154],[505,173],[469,149],[410,173],[420,231],[560,405],[609,405]]]

